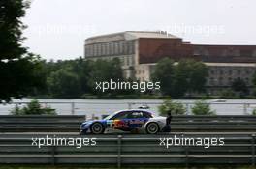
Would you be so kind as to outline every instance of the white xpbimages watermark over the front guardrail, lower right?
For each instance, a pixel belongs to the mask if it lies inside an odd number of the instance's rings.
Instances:
[[[159,146],[166,147],[166,149],[172,146],[203,146],[208,149],[211,146],[223,146],[225,144],[225,139],[223,137],[184,137],[174,136],[174,137],[164,137],[159,139]]]

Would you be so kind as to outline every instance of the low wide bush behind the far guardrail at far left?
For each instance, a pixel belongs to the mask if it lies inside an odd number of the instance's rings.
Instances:
[[[42,107],[37,99],[31,100],[27,106],[19,108],[16,106],[14,110],[11,111],[12,115],[56,115],[54,109],[50,107]]]

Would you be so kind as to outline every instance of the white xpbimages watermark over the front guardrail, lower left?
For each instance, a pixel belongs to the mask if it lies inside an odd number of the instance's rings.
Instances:
[[[75,146],[80,149],[82,146],[95,146],[97,144],[96,138],[83,138],[83,137],[34,137],[32,138],[32,146],[41,148],[43,146]]]

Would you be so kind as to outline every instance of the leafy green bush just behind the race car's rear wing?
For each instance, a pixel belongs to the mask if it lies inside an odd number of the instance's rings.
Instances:
[[[186,113],[186,108],[184,105],[178,101],[172,101],[172,100],[165,100],[163,104],[158,106],[158,110],[160,112],[160,115],[167,115],[169,111],[173,115],[183,115]]]

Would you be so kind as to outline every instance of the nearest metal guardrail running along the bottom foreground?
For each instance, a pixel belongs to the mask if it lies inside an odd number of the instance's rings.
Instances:
[[[87,135],[96,137],[95,146],[32,146],[32,137],[46,135],[0,135],[0,163],[44,164],[251,164],[255,166],[254,134],[186,134],[184,137],[224,137],[223,146],[171,146],[160,145],[160,138],[174,135]],[[53,135],[48,135],[53,137]],[[54,135],[61,138],[77,138],[74,135]]]

